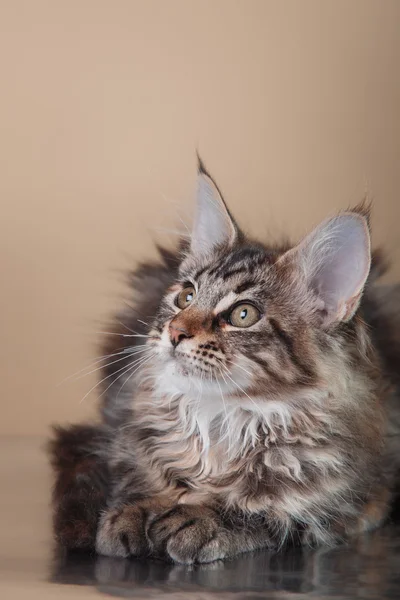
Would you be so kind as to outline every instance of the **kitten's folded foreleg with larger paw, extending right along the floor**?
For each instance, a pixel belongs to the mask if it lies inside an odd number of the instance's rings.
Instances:
[[[260,520],[235,522],[205,505],[172,507],[151,522],[147,535],[155,555],[183,564],[209,563],[274,545]]]

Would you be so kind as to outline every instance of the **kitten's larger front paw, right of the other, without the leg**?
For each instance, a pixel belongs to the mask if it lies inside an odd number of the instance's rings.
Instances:
[[[218,515],[204,506],[175,506],[150,524],[147,536],[154,554],[177,563],[207,563],[227,555]]]

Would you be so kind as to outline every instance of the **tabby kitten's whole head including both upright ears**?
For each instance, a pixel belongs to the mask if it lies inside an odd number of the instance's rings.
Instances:
[[[362,210],[323,222],[294,247],[270,248],[240,231],[200,164],[190,245],[149,341],[160,385],[247,397],[317,385],[369,269]]]

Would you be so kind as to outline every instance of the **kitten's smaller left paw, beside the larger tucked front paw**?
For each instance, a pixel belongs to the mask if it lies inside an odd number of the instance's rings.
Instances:
[[[105,556],[146,556],[146,513],[141,506],[123,506],[107,511],[100,519],[96,551]]]

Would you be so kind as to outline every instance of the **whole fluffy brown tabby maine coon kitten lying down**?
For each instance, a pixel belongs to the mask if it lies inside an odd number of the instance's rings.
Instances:
[[[51,442],[57,538],[193,563],[377,527],[400,466],[400,293],[368,280],[367,211],[271,248],[198,179],[190,244],[132,276],[102,424]]]

